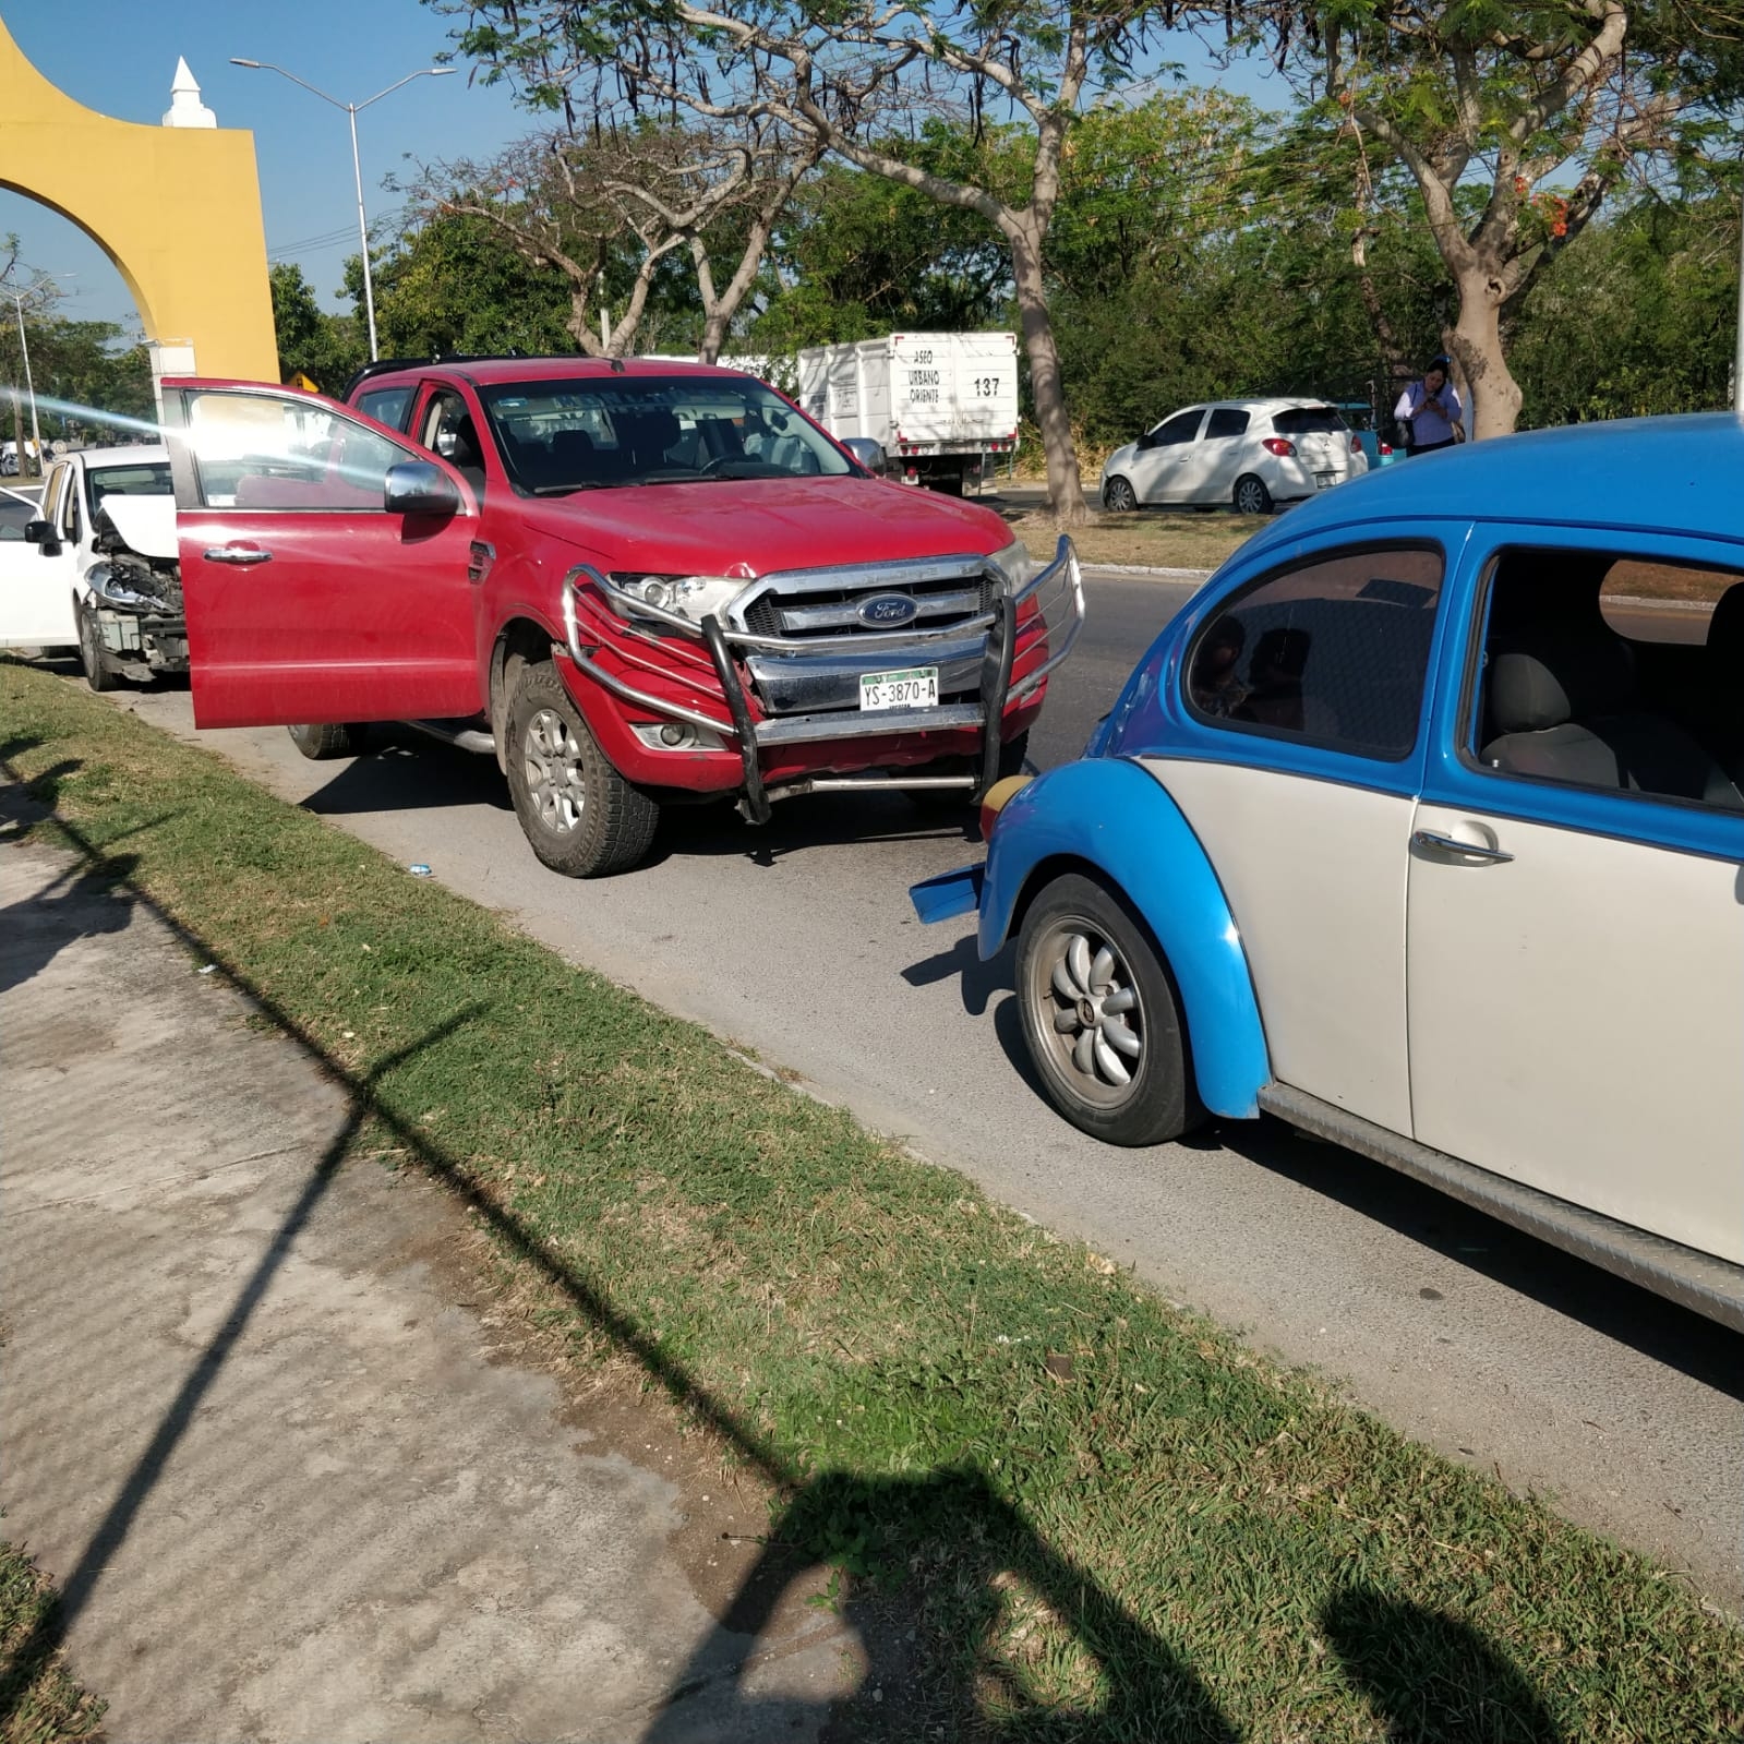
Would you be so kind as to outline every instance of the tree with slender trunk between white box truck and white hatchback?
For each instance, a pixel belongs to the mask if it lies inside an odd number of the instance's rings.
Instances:
[[[745,122],[769,117],[841,159],[977,213],[1005,242],[1029,385],[1048,466],[1048,501],[1085,516],[1060,358],[1048,316],[1046,237],[1080,105],[1130,77],[1160,23],[1160,0],[427,0],[466,14],[459,52],[485,77],[569,113],[656,105]],[[928,115],[970,122],[1005,108],[1027,133],[1022,176],[1001,185],[933,167],[891,145]],[[916,127],[917,131],[917,127]],[[1008,167],[994,160],[992,167]]]

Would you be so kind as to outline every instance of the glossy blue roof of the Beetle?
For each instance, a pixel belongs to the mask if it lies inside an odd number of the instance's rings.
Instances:
[[[1741,473],[1744,419],[1732,412],[1570,424],[1381,467],[1291,509],[1242,549],[1266,553],[1320,532],[1402,520],[1652,528],[1744,541]]]

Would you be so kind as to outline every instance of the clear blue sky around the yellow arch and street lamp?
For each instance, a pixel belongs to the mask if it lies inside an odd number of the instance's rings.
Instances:
[[[176,56],[185,56],[218,126],[255,134],[270,258],[298,262],[333,309],[342,307],[344,262],[358,249],[345,115],[276,73],[232,66],[230,56],[276,61],[356,103],[429,66],[450,24],[419,0],[0,0],[0,19],[68,96],[122,120],[155,124],[162,117]],[[1214,73],[1191,40],[1170,42],[1165,52],[1186,63],[1196,82],[1280,103],[1270,80]],[[382,188],[382,178],[405,169],[408,157],[488,157],[534,126],[504,87],[474,84],[466,68],[446,78],[417,78],[384,98],[358,117],[371,223],[394,209],[396,197]],[[9,230],[21,237],[31,267],[65,276],[63,314],[138,330],[120,276],[75,225],[23,195],[0,192],[0,234]]]

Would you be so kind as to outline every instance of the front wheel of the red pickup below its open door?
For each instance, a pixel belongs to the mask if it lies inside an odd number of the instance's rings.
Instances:
[[[504,750],[514,814],[553,872],[607,877],[647,856],[659,806],[605,760],[549,661],[516,675]]]

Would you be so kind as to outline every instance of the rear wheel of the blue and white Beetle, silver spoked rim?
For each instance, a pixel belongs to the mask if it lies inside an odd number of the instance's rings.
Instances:
[[[1069,966],[1067,944],[1085,940],[1083,963],[1102,961],[1106,947],[1113,970],[1097,996],[1092,985],[1078,989],[1081,975]],[[1067,991],[1057,978],[1066,964]],[[1118,1015],[1102,1013],[1102,999],[1114,992],[1130,1003]],[[1080,991],[1088,998],[1069,998]],[[1041,1080],[1048,1100],[1080,1132],[1107,1144],[1167,1144],[1203,1118],[1188,1064],[1186,1034],[1168,970],[1151,938],[1149,928],[1132,909],[1095,879],[1071,872],[1057,877],[1024,916],[1017,942],[1017,1006],[1024,1024],[1024,1045]],[[1087,1006],[1095,1012],[1092,1025],[1076,1018]],[[1057,1020],[1059,1018],[1059,1020]],[[1118,1024],[1137,1053],[1109,1050],[1128,1083],[1111,1083],[1100,1064],[1074,1064],[1074,1048],[1085,1029],[1113,1034],[1104,1024]],[[1076,1027],[1066,1027],[1073,1025]],[[1088,1052],[1095,1053],[1093,1045]]]

